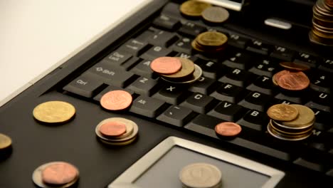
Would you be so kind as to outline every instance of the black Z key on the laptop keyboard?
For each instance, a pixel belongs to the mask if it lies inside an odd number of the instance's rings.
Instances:
[[[152,78],[140,77],[134,81],[131,85],[127,87],[129,90],[133,90],[135,93],[140,95],[148,95],[156,93],[159,90],[159,85],[157,84],[157,80]]]

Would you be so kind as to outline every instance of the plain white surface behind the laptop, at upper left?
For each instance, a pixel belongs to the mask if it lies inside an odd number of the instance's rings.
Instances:
[[[150,1],[0,1],[0,106]]]

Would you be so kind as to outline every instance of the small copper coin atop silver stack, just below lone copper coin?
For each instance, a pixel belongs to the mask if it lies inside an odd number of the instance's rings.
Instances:
[[[126,132],[126,125],[122,122],[105,122],[100,126],[100,133],[108,137],[117,137]]]

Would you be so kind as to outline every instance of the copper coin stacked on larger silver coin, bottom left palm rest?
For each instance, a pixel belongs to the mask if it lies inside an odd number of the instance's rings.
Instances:
[[[58,181],[63,181],[63,182],[68,182],[70,178],[68,177],[71,177],[73,178],[73,174],[76,174],[75,177],[68,183],[65,183],[65,184],[48,184],[47,182],[43,182],[43,177],[42,177],[42,174],[43,174],[43,171],[44,169],[47,169],[50,165],[54,165],[54,164],[65,164],[65,167],[70,167],[71,170],[68,170],[65,168],[65,170],[63,170],[62,172],[60,171],[61,167],[59,169],[55,169],[55,171],[51,173],[49,173],[48,175],[50,177],[56,177],[56,183]],[[73,171],[74,168],[75,170]],[[50,169],[48,169],[50,170]],[[70,173],[68,173],[70,172]],[[45,172],[44,172],[45,173]],[[48,172],[47,172],[48,173]],[[64,177],[62,177],[62,174],[64,173]],[[70,176],[68,176],[68,174],[70,174]],[[43,187],[43,188],[67,188],[67,187],[70,187],[72,186],[73,184],[75,184],[76,182],[78,182],[78,178],[79,178],[79,171],[76,167],[74,167],[72,164],[69,164],[67,162],[48,162],[46,164],[43,164],[41,165],[40,167],[36,168],[34,171],[33,171],[33,175],[32,175],[32,179],[33,179],[33,183],[35,183],[36,185],[38,185],[38,187]],[[52,179],[52,178],[51,178]],[[49,180],[51,180],[49,179]],[[53,179],[53,180],[55,180]],[[60,180],[59,180],[60,179]],[[63,180],[61,180],[63,179]],[[58,180],[58,181],[57,181]]]

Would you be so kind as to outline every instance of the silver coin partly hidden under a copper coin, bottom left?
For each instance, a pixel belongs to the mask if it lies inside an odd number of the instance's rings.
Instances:
[[[78,182],[79,174],[76,176],[76,178],[72,182],[69,182],[68,184],[60,185],[58,187],[49,186],[47,184],[44,184],[43,179],[42,179],[43,169],[48,167],[48,165],[50,165],[50,164],[56,164],[56,163],[58,163],[58,162],[48,162],[48,163],[43,164],[43,165],[39,166],[38,168],[36,168],[33,171],[33,175],[32,175],[33,183],[35,183],[38,187],[42,187],[42,188],[67,188],[67,187],[72,186],[76,182]]]

